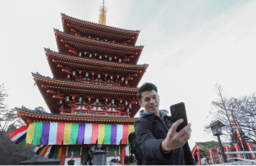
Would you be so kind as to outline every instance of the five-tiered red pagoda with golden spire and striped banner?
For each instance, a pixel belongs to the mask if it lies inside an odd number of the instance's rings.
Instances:
[[[51,113],[16,108],[27,125],[10,138],[38,145],[36,154],[60,165],[86,165],[97,149],[107,152],[106,164],[113,158],[124,165],[140,109],[137,86],[148,68],[137,65],[139,31],[107,26],[104,4],[99,24],[62,14],[62,25],[63,32],[54,29],[58,52],[44,48],[53,78],[32,73]]]

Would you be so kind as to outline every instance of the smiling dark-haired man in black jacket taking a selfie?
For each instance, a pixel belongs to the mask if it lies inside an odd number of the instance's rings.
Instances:
[[[138,90],[139,120],[135,122],[136,139],[144,158],[142,165],[195,165],[188,140],[190,124],[176,132],[182,123],[171,123],[167,110],[158,110],[158,87],[144,83]]]

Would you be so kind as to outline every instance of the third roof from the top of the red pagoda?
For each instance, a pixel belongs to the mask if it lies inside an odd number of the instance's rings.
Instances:
[[[59,52],[53,52],[50,49],[44,49],[48,56],[48,63],[51,67],[53,77],[66,79],[66,73],[63,68],[68,67],[72,70],[91,70],[107,74],[124,74],[127,77],[135,74],[129,82],[130,86],[137,86],[149,65],[133,65],[118,63],[112,61],[95,60],[83,56],[73,56]]]

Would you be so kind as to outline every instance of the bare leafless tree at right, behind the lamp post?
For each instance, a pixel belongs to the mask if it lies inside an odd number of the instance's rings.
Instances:
[[[213,101],[213,105],[217,108],[217,111],[210,110],[208,119],[211,122],[220,120],[226,126],[222,128],[224,131],[222,137],[226,141],[232,141],[234,136],[235,123],[239,128],[242,140],[248,140],[251,143],[256,144],[255,133],[256,128],[256,96],[253,93],[250,96],[240,96],[226,98],[222,94],[222,87],[216,85],[217,95],[220,96],[219,101]],[[234,120],[235,119],[235,120]],[[210,129],[204,129],[205,132],[210,134]]]

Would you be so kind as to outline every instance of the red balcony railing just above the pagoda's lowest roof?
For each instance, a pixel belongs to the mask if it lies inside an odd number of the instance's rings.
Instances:
[[[110,111],[110,110],[77,110],[77,109],[59,109],[59,110],[60,110],[60,114],[130,116],[130,112]]]

